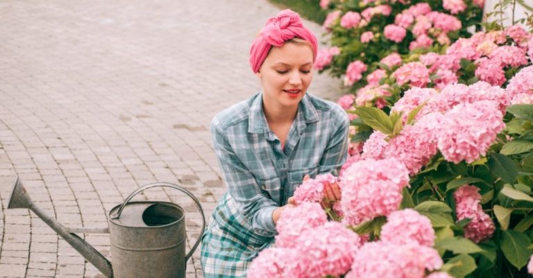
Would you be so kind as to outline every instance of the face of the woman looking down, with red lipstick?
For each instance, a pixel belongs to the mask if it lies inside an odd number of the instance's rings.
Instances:
[[[305,44],[273,47],[259,72],[264,105],[298,106],[313,79],[313,51]]]

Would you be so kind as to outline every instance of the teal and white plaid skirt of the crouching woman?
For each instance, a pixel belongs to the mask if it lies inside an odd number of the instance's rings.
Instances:
[[[246,277],[251,261],[274,238],[254,234],[229,193],[220,200],[202,236],[201,263],[205,278]]]

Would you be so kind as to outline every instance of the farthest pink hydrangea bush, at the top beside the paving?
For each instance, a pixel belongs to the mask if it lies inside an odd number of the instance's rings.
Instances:
[[[389,69],[409,51],[440,51],[466,29],[480,28],[484,0],[330,0],[321,7],[330,13],[323,28],[331,33],[332,51],[324,49],[315,67],[344,76],[358,89]],[[388,57],[388,58],[386,58]],[[383,60],[386,58],[385,60]],[[425,82],[425,80],[420,80]]]

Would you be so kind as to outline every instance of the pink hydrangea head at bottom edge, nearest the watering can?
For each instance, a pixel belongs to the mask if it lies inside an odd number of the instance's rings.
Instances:
[[[280,258],[283,258],[280,260]],[[289,248],[262,250],[248,268],[248,278],[305,277],[307,262],[300,252]]]

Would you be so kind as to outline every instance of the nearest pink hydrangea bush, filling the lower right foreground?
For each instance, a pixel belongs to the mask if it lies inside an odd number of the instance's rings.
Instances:
[[[412,87],[339,177],[296,189],[248,277],[528,277],[533,272],[533,66],[507,87]],[[322,207],[336,183],[341,200]],[[335,214],[330,211],[335,210]]]

